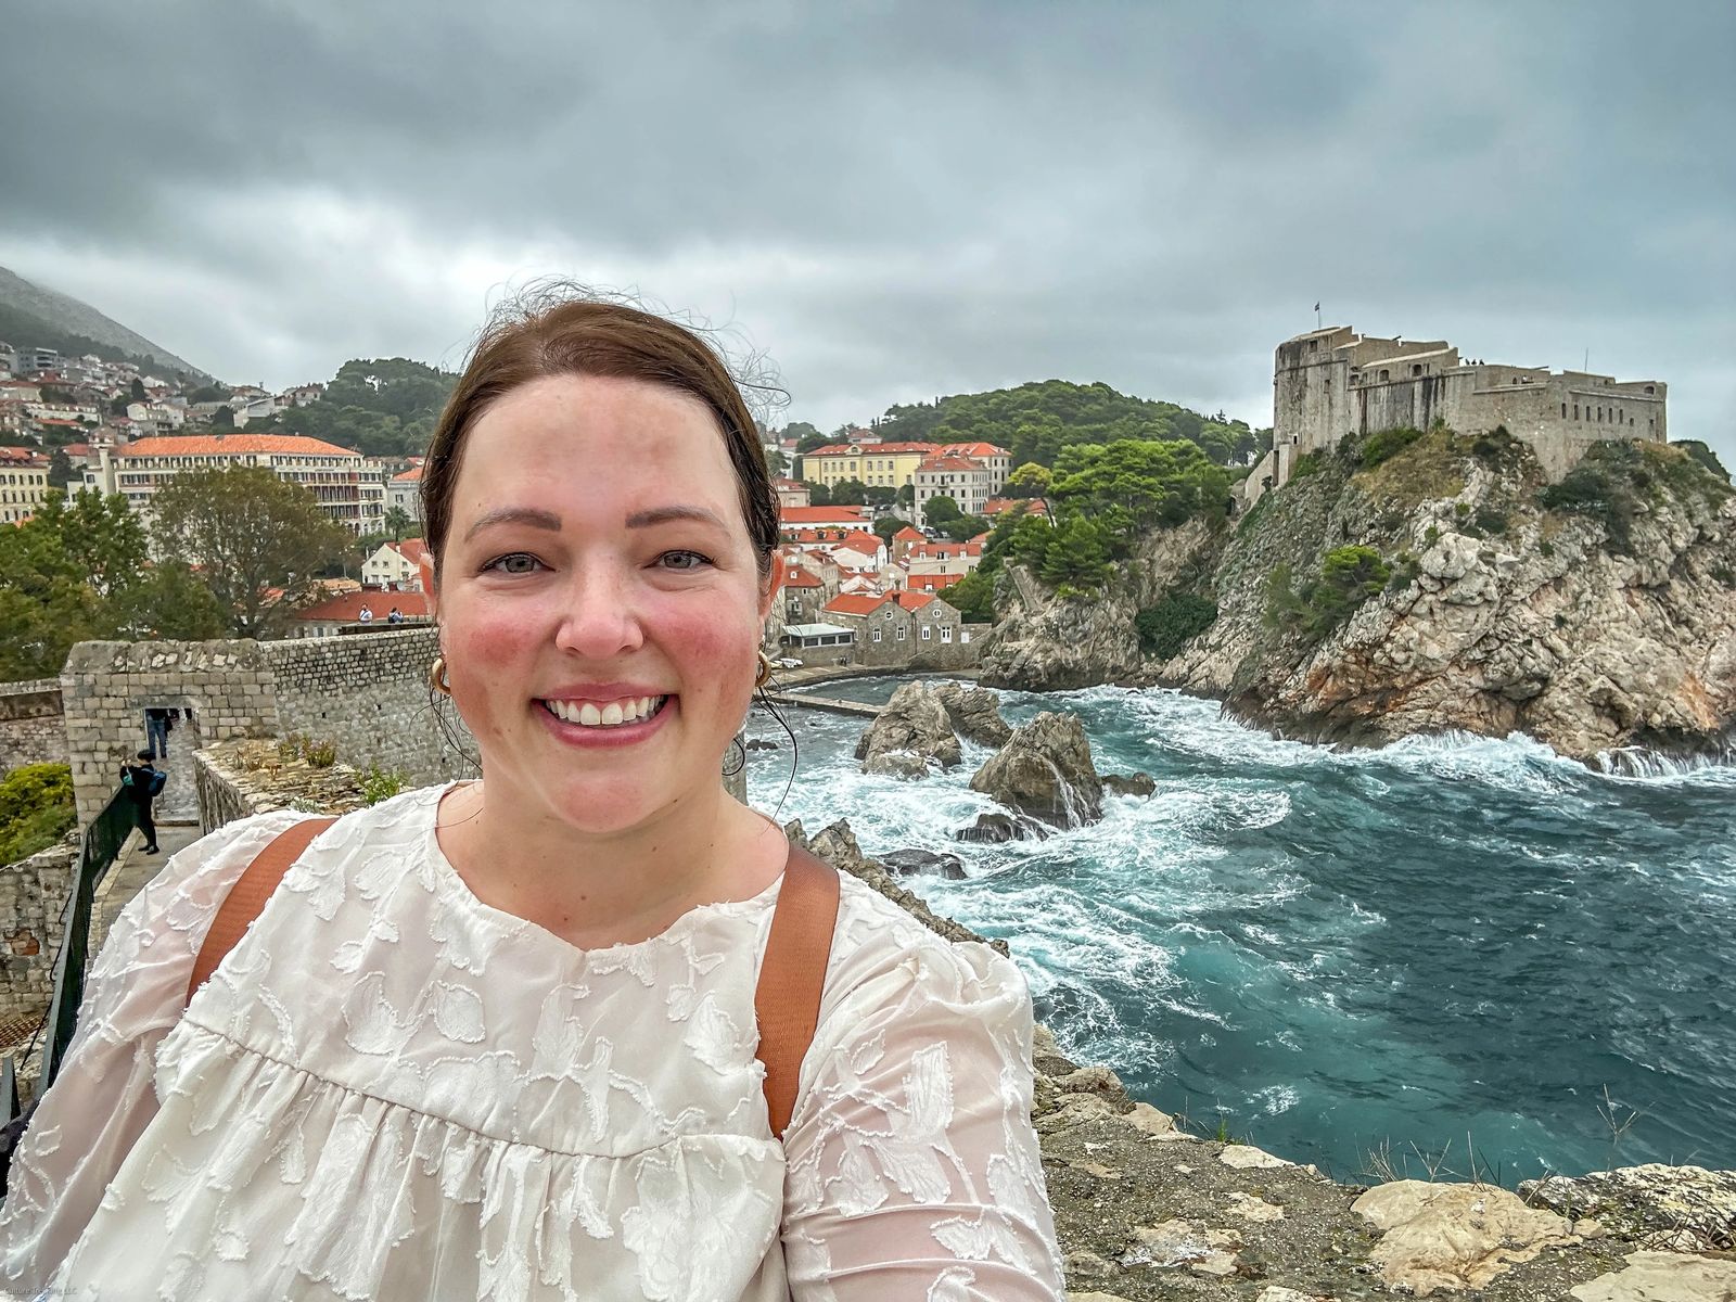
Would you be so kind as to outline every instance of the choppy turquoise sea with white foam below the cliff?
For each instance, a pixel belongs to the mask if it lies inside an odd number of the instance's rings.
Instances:
[[[896,679],[828,696],[884,701]],[[1736,1168],[1736,769],[1606,776],[1521,736],[1385,750],[1274,741],[1172,691],[1002,693],[1078,713],[1104,773],[1149,773],[1045,842],[951,833],[988,750],[870,778],[865,719],[760,713],[753,804],[870,854],[1005,937],[1064,1050],[1196,1130],[1344,1180],[1437,1168],[1514,1184],[1641,1161]]]

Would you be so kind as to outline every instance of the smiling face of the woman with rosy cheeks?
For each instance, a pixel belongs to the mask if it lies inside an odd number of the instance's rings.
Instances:
[[[609,833],[715,788],[769,606],[698,399],[564,375],[472,425],[436,611],[490,804]]]

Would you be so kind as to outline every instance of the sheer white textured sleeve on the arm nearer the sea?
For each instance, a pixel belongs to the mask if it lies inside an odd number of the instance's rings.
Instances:
[[[785,1135],[792,1293],[1061,1299],[1024,979],[983,944],[903,927],[889,939],[832,969],[802,1066]]]

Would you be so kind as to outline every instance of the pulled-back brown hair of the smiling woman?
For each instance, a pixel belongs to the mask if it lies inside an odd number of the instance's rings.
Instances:
[[[549,375],[644,380],[691,394],[717,418],[741,490],[741,517],[759,562],[771,573],[778,550],[778,495],[759,448],[753,415],[729,368],[687,326],[623,302],[576,297],[575,288],[543,288],[495,314],[483,330],[458,385],[446,399],[422,465],[422,521],[439,575],[451,495],[470,427],[496,399]]]

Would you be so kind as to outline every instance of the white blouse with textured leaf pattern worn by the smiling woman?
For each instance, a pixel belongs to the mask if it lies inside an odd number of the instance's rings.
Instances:
[[[0,1288],[194,1299],[1062,1297],[1017,970],[844,875],[779,1144],[753,1057],[778,887],[578,950],[481,903],[446,788],[342,818],[182,1010],[304,814],[174,856],[92,970],[0,1210]]]

